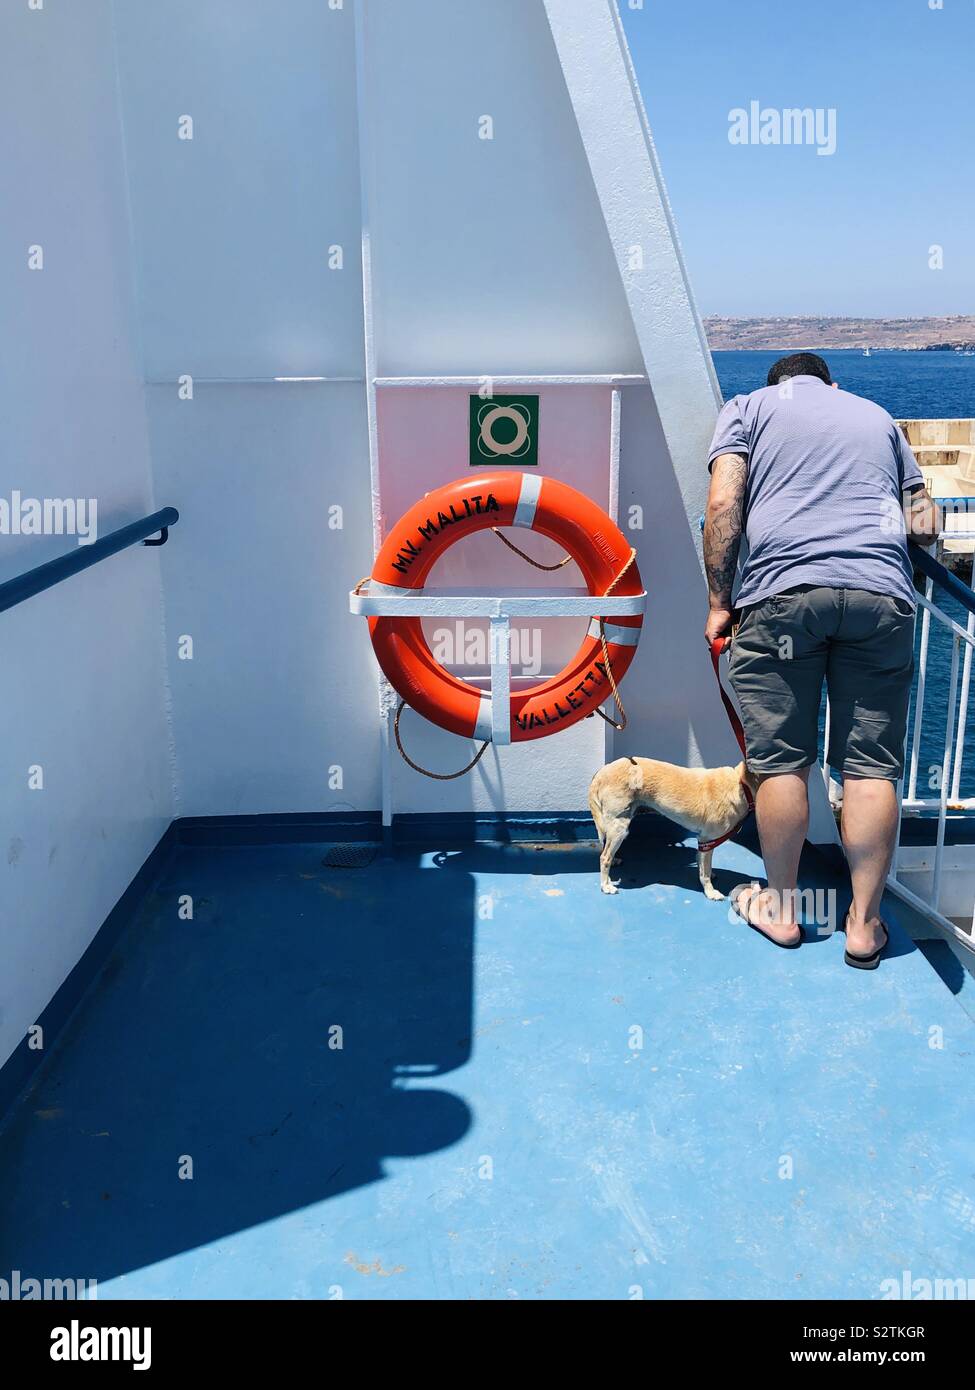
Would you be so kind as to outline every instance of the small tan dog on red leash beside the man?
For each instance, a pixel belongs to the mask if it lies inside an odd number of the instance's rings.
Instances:
[[[652,758],[618,758],[590,783],[590,810],[599,835],[599,887],[618,892],[609,869],[640,806],[659,810],[693,830],[698,840],[719,840],[748,815],[744,784],[754,795],[757,778],[737,767],[677,767]],[[720,901],[711,881],[711,849],[698,849],[697,873],[708,898]]]

